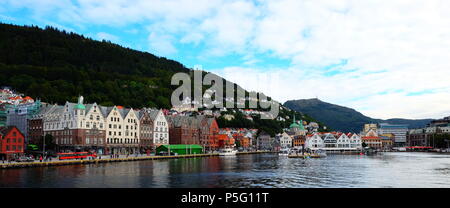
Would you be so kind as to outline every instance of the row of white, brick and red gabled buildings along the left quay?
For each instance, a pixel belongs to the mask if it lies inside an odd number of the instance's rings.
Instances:
[[[22,98],[10,90],[2,93],[2,101],[5,100],[2,102],[3,138],[13,134],[9,131],[17,131],[14,135],[23,135],[23,138],[21,143],[13,143],[12,139],[0,143],[3,147],[1,158],[23,153],[28,144],[41,147],[48,138],[55,144],[56,152],[148,154],[160,146],[164,146],[160,150],[170,149],[168,145],[178,145],[174,148],[180,149],[183,145],[201,146],[202,152],[227,147],[257,148],[257,129],[219,128],[216,117],[223,110],[179,112],[175,109],[101,106],[84,103],[83,96],[76,103],[57,105]]]

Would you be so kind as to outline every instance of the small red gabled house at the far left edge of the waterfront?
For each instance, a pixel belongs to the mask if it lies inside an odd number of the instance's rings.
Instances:
[[[23,154],[25,136],[15,126],[0,127],[0,159],[8,160]]]

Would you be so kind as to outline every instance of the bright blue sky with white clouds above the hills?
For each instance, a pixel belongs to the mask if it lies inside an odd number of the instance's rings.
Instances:
[[[450,115],[450,1],[0,0],[47,25],[201,67],[277,101],[374,118]]]

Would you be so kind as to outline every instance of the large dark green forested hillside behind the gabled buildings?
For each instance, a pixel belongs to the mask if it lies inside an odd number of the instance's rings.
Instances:
[[[0,86],[44,102],[76,102],[83,95],[87,103],[169,109],[178,87],[170,81],[177,72],[192,76],[193,71],[164,57],[52,27],[0,24]],[[277,133],[288,125],[256,120],[248,127]],[[245,127],[239,122],[226,126]]]

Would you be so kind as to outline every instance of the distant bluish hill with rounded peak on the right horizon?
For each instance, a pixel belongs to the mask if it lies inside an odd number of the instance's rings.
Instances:
[[[360,132],[366,123],[408,124],[410,128],[424,127],[432,119],[375,119],[344,106],[323,102],[319,99],[289,100],[284,106],[306,113],[334,130]]]

